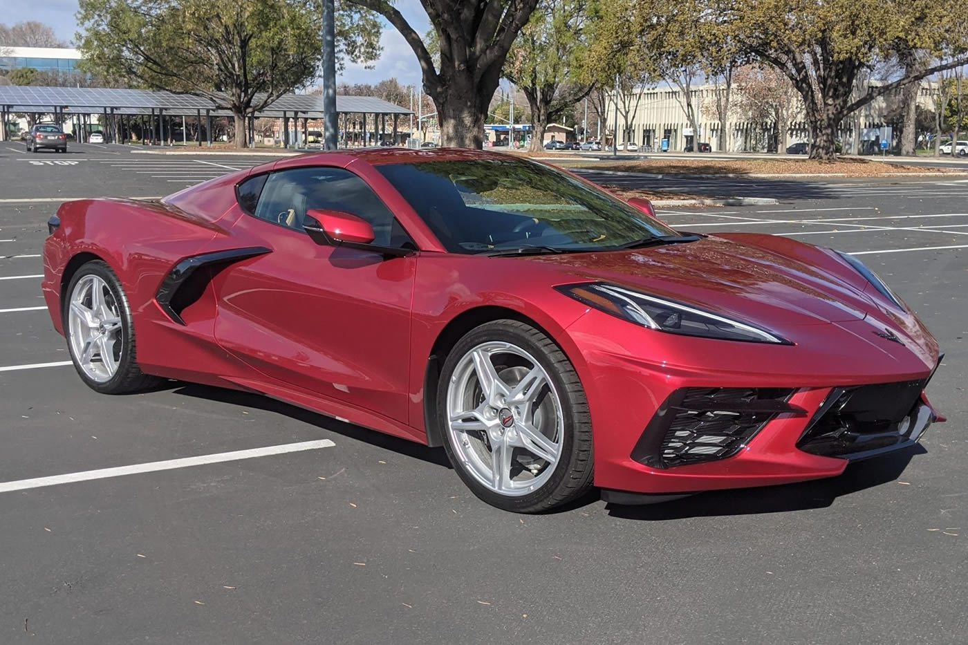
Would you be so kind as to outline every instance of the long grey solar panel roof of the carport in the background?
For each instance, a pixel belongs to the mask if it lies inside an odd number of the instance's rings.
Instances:
[[[256,103],[265,95],[257,96]],[[53,111],[54,107],[72,112],[102,112],[114,109],[115,113],[150,113],[152,109],[165,110],[173,116],[196,114],[197,110],[218,109],[230,114],[225,104],[216,105],[211,100],[192,94],[175,94],[166,91],[115,89],[103,87],[30,87],[19,85],[0,86],[0,107],[9,111]],[[13,109],[16,107],[16,109]],[[135,111],[132,111],[135,110]],[[315,94],[287,94],[257,112],[257,116],[275,116],[298,112],[299,116],[318,118],[322,116],[322,96]],[[376,97],[337,96],[336,111],[367,112],[378,114],[411,114],[405,107],[396,106]]]

